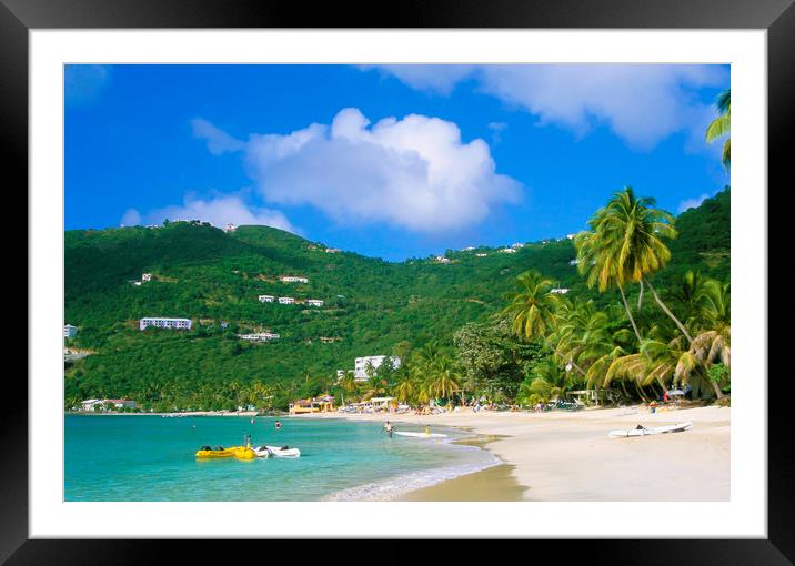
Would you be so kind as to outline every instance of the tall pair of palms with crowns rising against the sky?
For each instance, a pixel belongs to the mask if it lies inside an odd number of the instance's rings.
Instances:
[[[654,199],[638,199],[631,186],[615,193],[607,205],[588,221],[591,231],[575,239],[578,269],[587,275],[588,286],[598,285],[601,292],[612,285],[618,287],[638,343],[643,342],[643,337],[624,295],[624,285],[627,283],[644,283],[648,286],[657,305],[674,321],[687,341],[693,342],[687,329],[660,299],[648,280],[650,275],[663,269],[671,260],[671,251],[663,239],[676,237],[674,218],[654,206]]]

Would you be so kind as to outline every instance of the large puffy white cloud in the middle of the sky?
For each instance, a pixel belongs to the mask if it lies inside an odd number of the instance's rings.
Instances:
[[[245,162],[269,202],[309,204],[340,224],[455,230],[521,195],[520,183],[495,172],[483,140],[464,143],[456,124],[419,114],[370,125],[343,109],[331,125],[252,134]]]

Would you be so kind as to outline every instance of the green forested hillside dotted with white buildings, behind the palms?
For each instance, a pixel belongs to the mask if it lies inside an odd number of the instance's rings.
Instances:
[[[655,277],[660,286],[688,269],[727,280],[728,190],[681,214],[676,228],[673,260]],[[74,345],[94,352],[68,366],[67,402],[127,396],[157,406],[167,397],[212,397],[218,404],[229,398],[224,387],[253,381],[281,384],[286,398],[352,368],[356,356],[401,355],[432,340],[451,344],[465,323],[497,312],[514,277],[530,269],[568,287],[567,296],[615,299],[585,287],[570,263],[570,240],[527,243],[515,253],[449,252],[449,264],[389,263],[325,247],[272,228],[225,233],[198,222],[67,232],[66,322],[80,329]],[[142,273],[152,281],[131,283]],[[282,275],[309,283],[284,283]],[[261,294],[324,305],[260,303]],[[143,316],[189,317],[193,330],[140,332]],[[237,336],[260,331],[281,337],[251,344]]]

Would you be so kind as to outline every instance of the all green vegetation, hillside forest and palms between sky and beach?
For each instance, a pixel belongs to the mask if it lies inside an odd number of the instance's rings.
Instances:
[[[70,345],[93,353],[67,366],[66,406],[284,407],[326,391],[531,404],[582,387],[636,398],[681,382],[698,395],[728,388],[727,189],[676,219],[621,191],[574,240],[445,256],[388,263],[265,226],[198,222],[67,232],[66,320],[80,327]],[[152,281],[131,283],[142,273]],[[142,316],[190,317],[193,329],[140,332]],[[281,337],[238,337],[265,330]],[[338,382],[336,370],[375,354],[404,363]]]

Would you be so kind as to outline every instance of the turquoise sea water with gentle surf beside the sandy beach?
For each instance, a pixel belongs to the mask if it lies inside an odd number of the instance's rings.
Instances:
[[[447,438],[389,438],[381,423],[343,420],[67,415],[66,501],[384,501],[497,464]],[[401,431],[420,427],[398,426]],[[300,458],[194,457],[202,445],[289,445]]]

